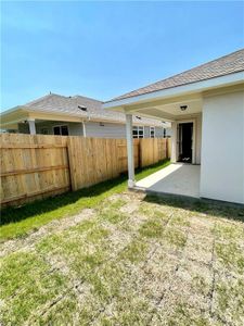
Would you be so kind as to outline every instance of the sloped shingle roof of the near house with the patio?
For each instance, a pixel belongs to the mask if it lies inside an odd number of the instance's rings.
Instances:
[[[244,71],[244,49],[202,64],[172,77],[127,92],[107,102],[131,98],[157,90],[202,82]]]

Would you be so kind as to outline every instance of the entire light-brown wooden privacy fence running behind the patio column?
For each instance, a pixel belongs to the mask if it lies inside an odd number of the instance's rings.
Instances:
[[[85,188],[127,171],[126,139],[1,134],[1,204]],[[167,139],[134,139],[134,166],[168,158]]]

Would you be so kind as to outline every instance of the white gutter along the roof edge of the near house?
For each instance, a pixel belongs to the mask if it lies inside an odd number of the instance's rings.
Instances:
[[[164,98],[170,98],[176,96],[181,96],[190,92],[198,92],[198,91],[205,91],[210,88],[217,88],[217,87],[223,87],[223,86],[230,86],[234,84],[239,84],[244,82],[244,72],[239,72],[234,74],[229,74],[207,80],[201,80],[188,85],[171,87],[163,90],[152,91],[150,93],[143,93],[139,96],[134,96],[131,98],[126,98],[121,100],[115,100],[107,103],[104,103],[102,105],[103,109],[113,109],[116,106],[121,105],[129,105],[134,102],[140,101],[147,101],[147,100],[155,100],[155,99],[164,99]]]

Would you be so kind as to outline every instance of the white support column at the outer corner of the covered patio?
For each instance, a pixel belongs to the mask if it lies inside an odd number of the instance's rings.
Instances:
[[[133,137],[132,137],[132,115],[126,114],[126,139],[128,155],[128,187],[134,186],[134,163],[133,163]]]

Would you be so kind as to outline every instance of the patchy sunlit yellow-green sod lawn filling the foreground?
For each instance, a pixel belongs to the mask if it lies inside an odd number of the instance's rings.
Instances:
[[[243,210],[125,188],[0,244],[0,325],[244,324]]]

